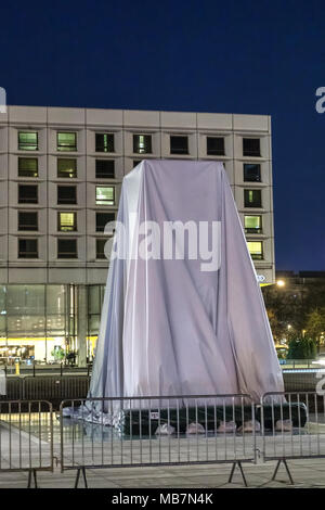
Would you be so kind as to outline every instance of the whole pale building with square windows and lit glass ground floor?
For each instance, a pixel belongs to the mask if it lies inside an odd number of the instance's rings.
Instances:
[[[143,158],[224,164],[261,283],[274,282],[271,119],[8,106],[0,113],[0,361],[91,360],[105,225]],[[204,204],[203,204],[204,206]]]

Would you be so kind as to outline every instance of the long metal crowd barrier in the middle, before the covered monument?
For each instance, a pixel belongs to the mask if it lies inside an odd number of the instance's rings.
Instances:
[[[77,470],[76,487],[86,469],[192,463],[232,463],[229,481],[237,466],[247,485],[242,463],[256,460],[249,395],[69,399],[60,416],[61,468]]]

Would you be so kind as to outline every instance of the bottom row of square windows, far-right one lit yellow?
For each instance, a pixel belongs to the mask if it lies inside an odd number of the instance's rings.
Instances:
[[[106,239],[96,239],[96,258],[106,258]],[[253,260],[263,259],[263,242],[247,241]],[[37,239],[18,239],[18,258],[38,258]],[[77,239],[57,239],[57,258],[78,258]]]

